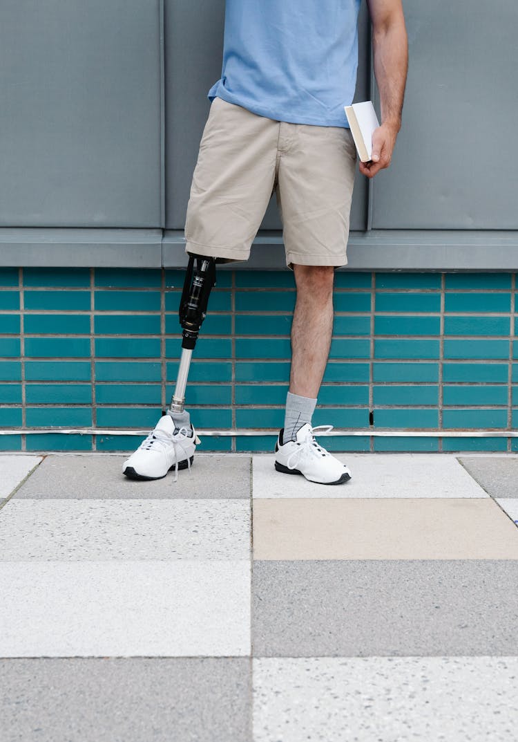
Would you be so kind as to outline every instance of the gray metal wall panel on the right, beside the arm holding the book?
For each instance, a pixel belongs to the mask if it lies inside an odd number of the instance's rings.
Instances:
[[[516,0],[405,0],[402,131],[373,226],[517,229]]]

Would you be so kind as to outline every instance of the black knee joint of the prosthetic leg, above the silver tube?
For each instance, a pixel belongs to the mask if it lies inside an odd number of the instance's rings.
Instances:
[[[196,345],[207,313],[210,291],[215,285],[216,258],[190,254],[179,306],[182,348],[193,349]]]

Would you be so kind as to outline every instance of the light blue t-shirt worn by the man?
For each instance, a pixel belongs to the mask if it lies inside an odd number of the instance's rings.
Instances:
[[[361,0],[226,0],[221,78],[207,94],[276,121],[348,128]]]

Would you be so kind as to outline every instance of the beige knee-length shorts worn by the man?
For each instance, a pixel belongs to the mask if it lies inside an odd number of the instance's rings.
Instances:
[[[185,252],[247,260],[275,191],[287,266],[345,266],[355,165],[348,128],[275,121],[214,98],[190,187]]]

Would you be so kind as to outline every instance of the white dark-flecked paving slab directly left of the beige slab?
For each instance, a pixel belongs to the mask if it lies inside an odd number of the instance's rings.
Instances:
[[[10,500],[0,560],[249,559],[246,500]]]

